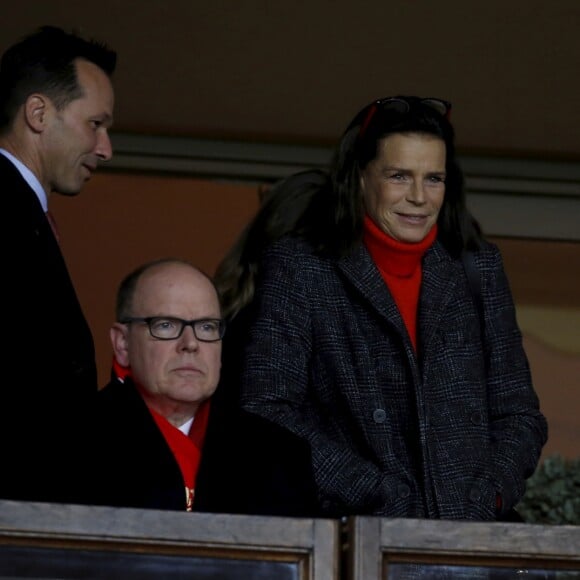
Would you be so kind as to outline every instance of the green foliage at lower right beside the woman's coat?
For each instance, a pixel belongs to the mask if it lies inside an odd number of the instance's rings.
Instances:
[[[516,509],[528,523],[580,525],[580,457],[546,457]]]

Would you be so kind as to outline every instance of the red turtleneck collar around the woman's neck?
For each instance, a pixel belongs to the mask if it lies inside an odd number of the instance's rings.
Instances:
[[[407,278],[420,266],[425,252],[437,238],[437,224],[429,233],[416,243],[401,242],[385,233],[371,219],[364,218],[363,242],[372,259],[384,274]]]

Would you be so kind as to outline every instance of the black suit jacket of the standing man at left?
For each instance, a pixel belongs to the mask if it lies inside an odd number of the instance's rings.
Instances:
[[[79,409],[98,385],[93,338],[40,202],[3,155],[0,191],[0,497],[66,501]]]

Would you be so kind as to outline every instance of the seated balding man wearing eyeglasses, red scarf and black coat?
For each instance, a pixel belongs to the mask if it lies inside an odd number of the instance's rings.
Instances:
[[[224,333],[214,284],[191,264],[161,259],[125,277],[82,503],[302,515],[314,493],[304,446],[214,396]]]

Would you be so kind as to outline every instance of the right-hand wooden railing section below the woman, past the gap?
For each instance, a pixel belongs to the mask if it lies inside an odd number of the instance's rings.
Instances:
[[[349,580],[580,579],[580,526],[357,517]]]

